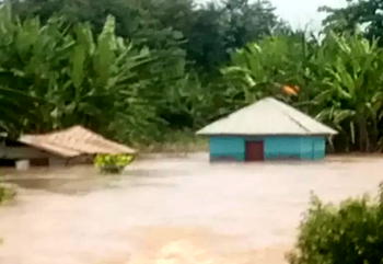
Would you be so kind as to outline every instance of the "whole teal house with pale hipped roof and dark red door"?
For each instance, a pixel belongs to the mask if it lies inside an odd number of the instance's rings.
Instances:
[[[334,129],[272,97],[263,99],[197,133],[209,137],[210,160],[325,158]]]

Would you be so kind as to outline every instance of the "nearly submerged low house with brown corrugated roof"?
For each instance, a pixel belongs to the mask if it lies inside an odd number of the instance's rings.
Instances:
[[[0,165],[66,165],[92,161],[98,153],[136,153],[82,126],[40,135],[23,135],[18,140],[2,137]]]

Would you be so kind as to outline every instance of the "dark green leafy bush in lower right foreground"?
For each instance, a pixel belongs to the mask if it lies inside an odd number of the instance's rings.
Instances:
[[[291,264],[382,264],[383,188],[378,200],[364,196],[324,205],[314,197],[301,223]]]

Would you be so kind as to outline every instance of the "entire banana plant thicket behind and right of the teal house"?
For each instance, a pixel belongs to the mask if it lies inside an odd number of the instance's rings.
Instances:
[[[223,70],[233,100],[251,103],[265,95],[301,107],[338,129],[339,150],[379,150],[383,49],[359,36],[328,34],[322,42],[303,36],[269,37],[233,54]],[[298,85],[294,96],[283,85]]]

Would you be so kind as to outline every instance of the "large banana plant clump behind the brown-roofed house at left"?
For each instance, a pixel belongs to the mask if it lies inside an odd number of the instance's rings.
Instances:
[[[0,84],[8,91],[0,91],[1,127],[40,133],[82,124],[120,140],[159,130],[164,89],[184,67],[173,66],[183,59],[177,53],[166,57],[116,36],[113,16],[95,35],[88,24],[68,26],[60,18],[21,21],[1,5]],[[24,99],[30,103],[19,105]]]

